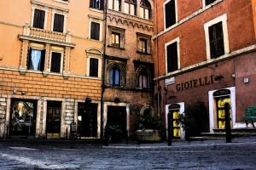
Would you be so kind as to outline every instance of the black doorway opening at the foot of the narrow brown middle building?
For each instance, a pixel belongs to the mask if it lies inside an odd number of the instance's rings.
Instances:
[[[126,107],[108,106],[108,135],[111,142],[122,142],[127,137]]]

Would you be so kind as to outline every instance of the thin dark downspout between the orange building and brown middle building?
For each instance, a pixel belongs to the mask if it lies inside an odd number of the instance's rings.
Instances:
[[[105,91],[105,54],[106,54],[106,48],[107,48],[107,1],[104,1],[104,16],[103,19],[105,20],[105,26],[104,26],[104,39],[103,39],[103,54],[102,54],[102,95],[101,95],[101,140],[103,142],[104,135],[104,91]]]

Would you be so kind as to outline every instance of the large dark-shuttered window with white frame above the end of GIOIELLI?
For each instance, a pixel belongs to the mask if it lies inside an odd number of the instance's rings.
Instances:
[[[207,59],[216,59],[230,53],[227,14],[208,21],[204,25]]]

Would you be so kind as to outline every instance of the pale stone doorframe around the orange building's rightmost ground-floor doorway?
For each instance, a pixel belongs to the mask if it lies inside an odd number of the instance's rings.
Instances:
[[[75,99],[74,105],[74,121],[77,125],[78,131],[78,114],[79,114],[79,103],[84,103],[84,99]],[[91,104],[97,104],[97,139],[101,138],[101,101],[92,100]],[[95,138],[86,138],[86,139],[95,139]]]

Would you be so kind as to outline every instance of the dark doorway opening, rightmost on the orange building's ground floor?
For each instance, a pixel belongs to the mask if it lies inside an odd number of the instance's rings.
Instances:
[[[97,104],[79,103],[78,136],[97,136]]]

